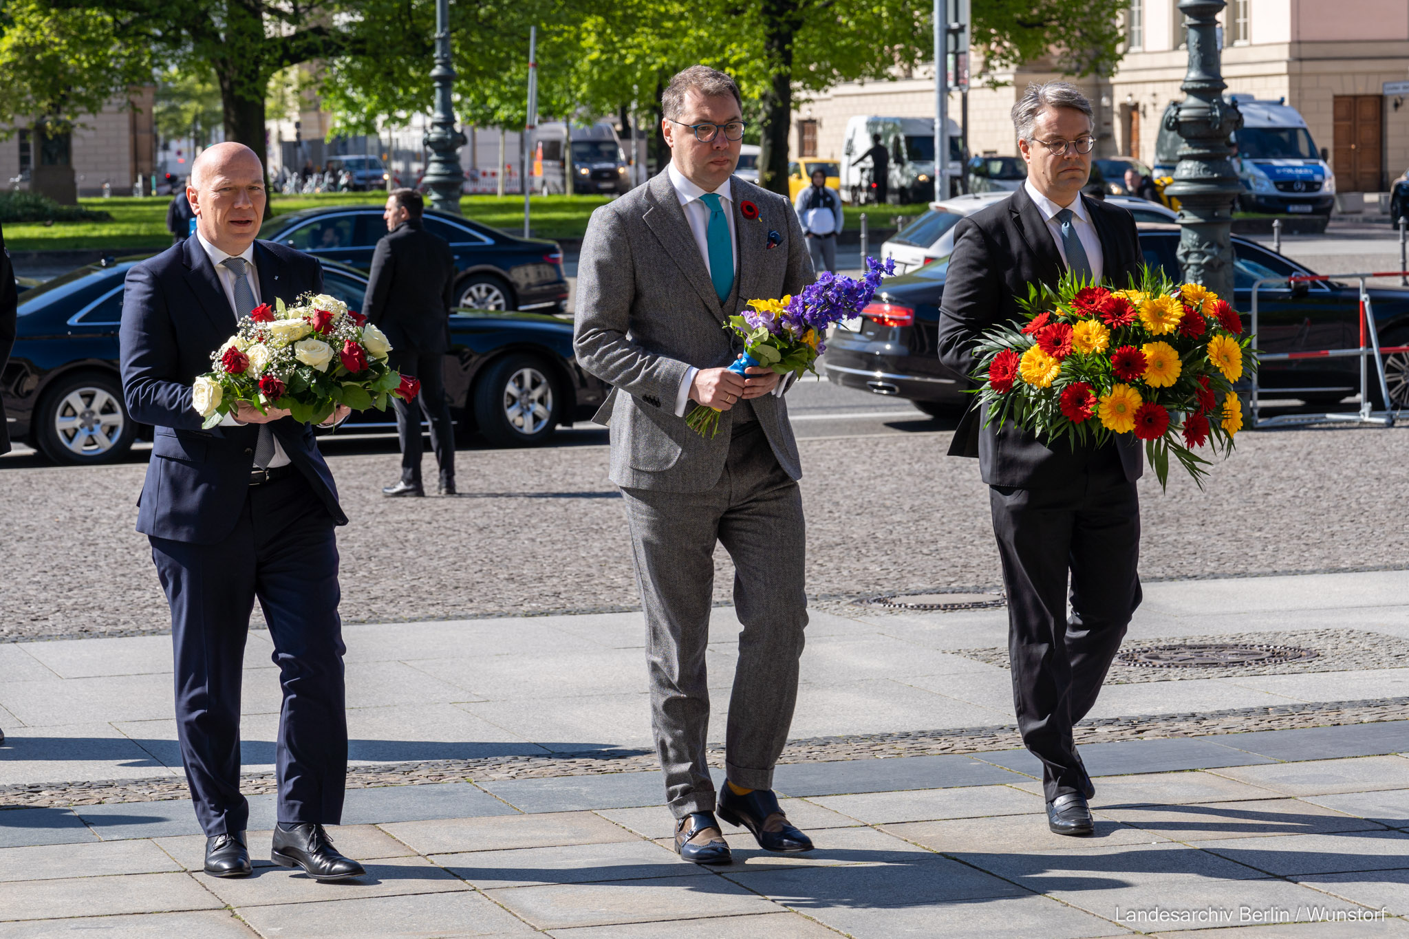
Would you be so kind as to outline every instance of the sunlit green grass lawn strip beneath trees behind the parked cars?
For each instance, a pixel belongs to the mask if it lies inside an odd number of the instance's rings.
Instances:
[[[331,206],[380,206],[380,193],[321,193],[316,196],[273,196],[275,215],[303,208]],[[606,204],[606,196],[533,196],[530,220],[535,238],[582,238],[588,217],[597,206]],[[80,198],[86,208],[101,210],[113,215],[107,222],[27,222],[6,225],[4,239],[10,251],[155,251],[170,245],[166,231],[166,207],[169,196],[113,198]],[[510,234],[523,232],[523,196],[465,196],[459,201],[461,211],[468,218],[500,228]],[[892,215],[913,217],[929,208],[917,206],[867,206],[867,221],[871,229],[889,229]],[[861,227],[861,210],[847,207],[847,229]]]

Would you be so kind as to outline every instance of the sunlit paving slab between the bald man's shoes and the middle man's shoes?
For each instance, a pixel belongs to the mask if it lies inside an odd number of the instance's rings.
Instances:
[[[379,828],[423,855],[606,845],[637,839],[620,825],[592,812],[455,818],[442,822],[379,825]]]

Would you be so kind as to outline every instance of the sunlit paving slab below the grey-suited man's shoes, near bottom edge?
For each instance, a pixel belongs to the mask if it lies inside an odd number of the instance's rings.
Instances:
[[[778,911],[775,904],[704,870],[658,880],[510,887],[486,895],[538,929]]]

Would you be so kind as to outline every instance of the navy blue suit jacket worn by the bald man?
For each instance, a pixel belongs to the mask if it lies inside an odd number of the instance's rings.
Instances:
[[[292,303],[323,291],[316,258],[269,241],[255,242],[259,297]],[[244,314],[247,311],[241,311]],[[190,386],[211,370],[210,353],[235,332],[235,311],[194,235],[127,272],[123,294],[123,396],[134,420],[155,427],[152,460],[138,500],[137,531],[169,541],[213,545],[235,528],[249,489],[258,425],[201,429]],[[293,418],[273,431],[338,525],[333,473],[313,428]]]

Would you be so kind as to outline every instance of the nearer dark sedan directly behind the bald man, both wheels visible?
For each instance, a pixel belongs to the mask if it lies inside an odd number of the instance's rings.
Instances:
[[[123,404],[117,327],[123,280],[141,258],[79,267],[20,294],[20,328],[0,394],[10,436],[58,463],[118,459],[151,428],[134,422]],[[324,290],[362,305],[366,276],[323,263]],[[445,390],[457,432],[483,434],[496,446],[541,443],[558,425],[592,417],[606,386],[572,355],[572,324],[538,313],[459,310],[449,318]],[[354,414],[340,434],[395,432],[390,411]]]

